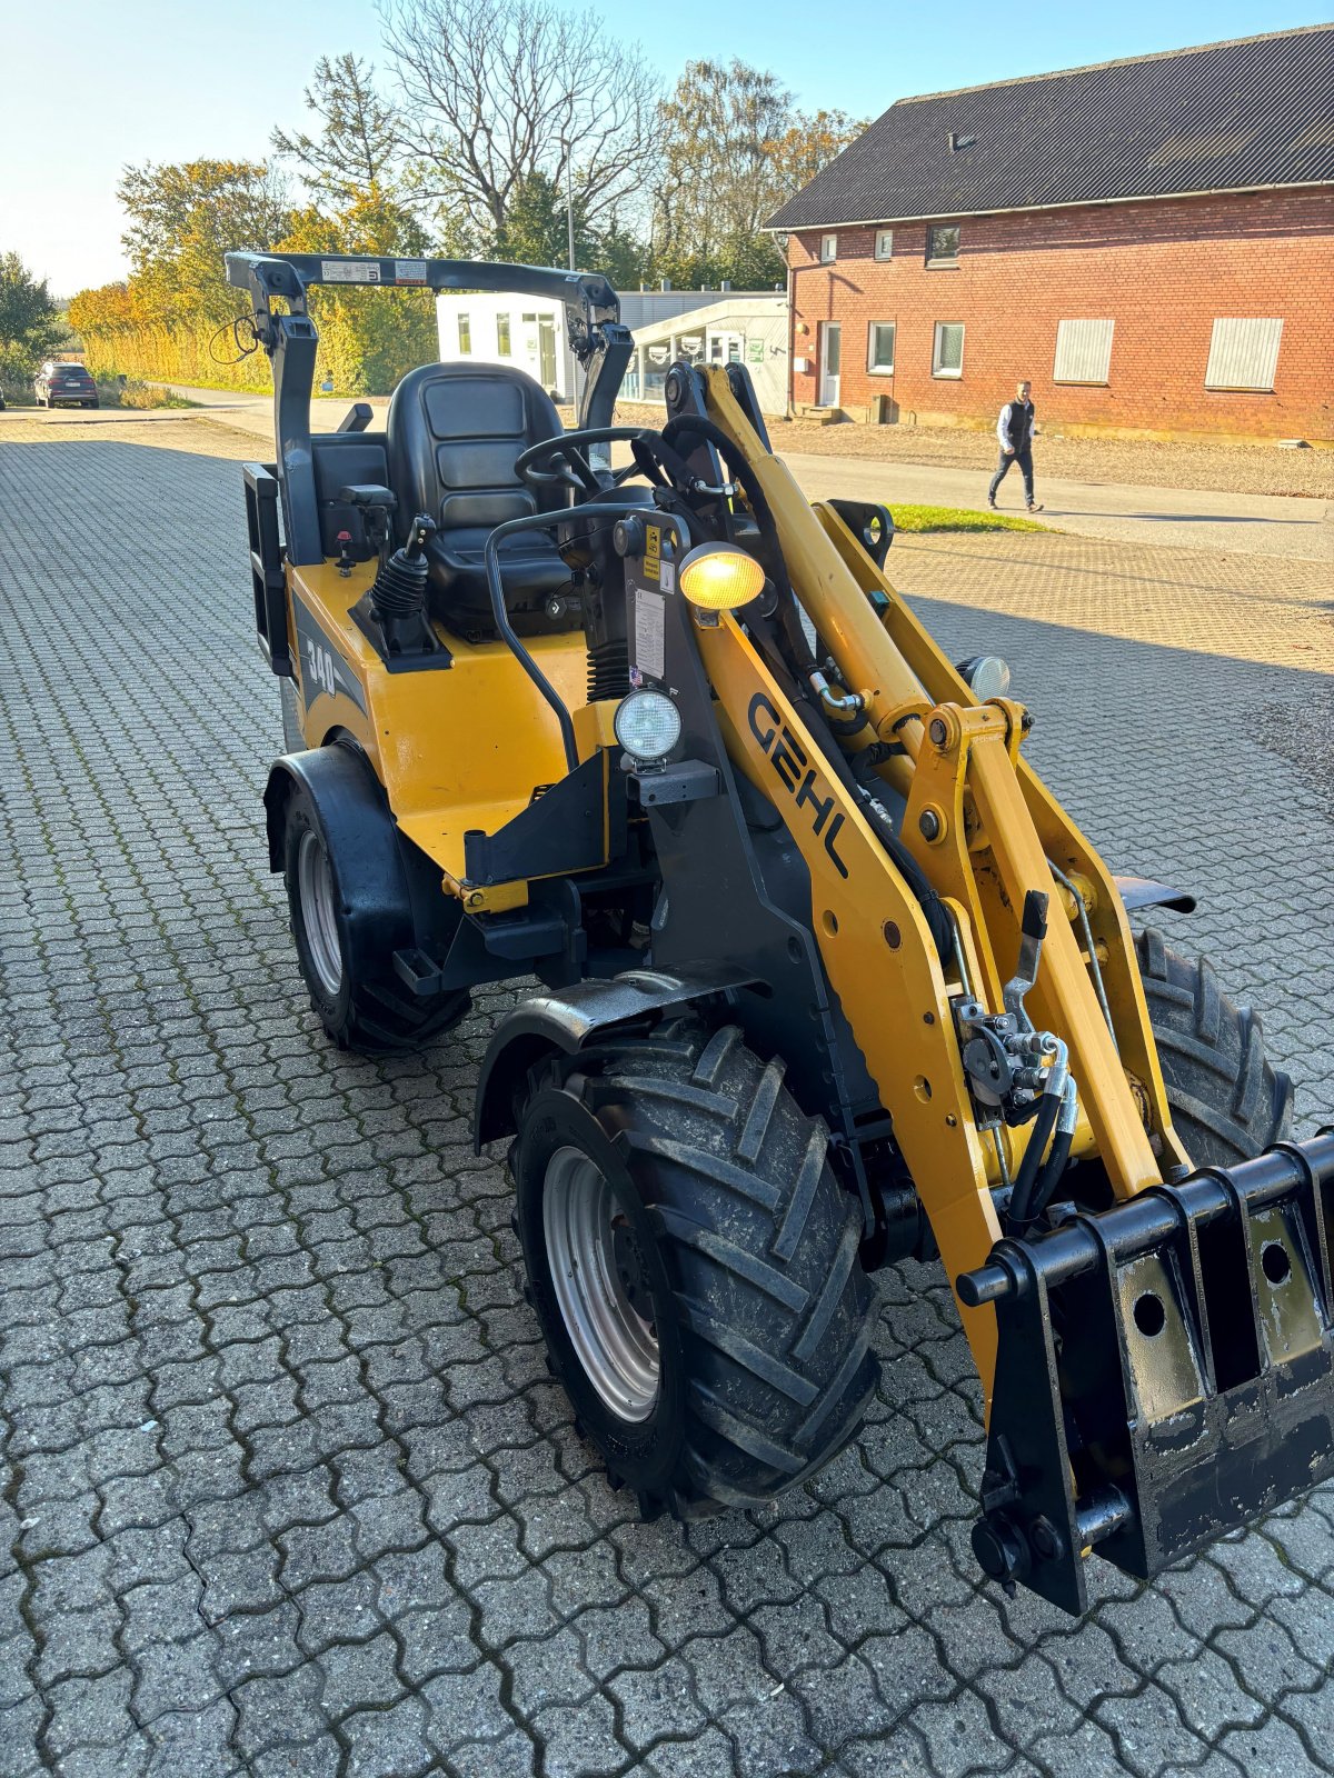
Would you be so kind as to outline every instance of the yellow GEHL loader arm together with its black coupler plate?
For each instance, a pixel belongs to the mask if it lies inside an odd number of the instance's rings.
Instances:
[[[1078,1613],[1094,1547],[1149,1577],[1334,1474],[1334,1133],[1192,1172],[1124,907],[1025,763],[1026,711],[973,697],[841,517],[808,505],[724,372],[695,388],[745,461],[752,503],[758,489],[829,654],[811,670],[790,642],[797,681],[815,693],[804,718],[756,647],[761,622],[697,626],[727,752],[781,811],[809,869],[825,971],[982,1380],[973,1549],[1009,1591],[1023,1581]],[[843,729],[841,747],[877,747],[861,781],[840,770],[818,708],[827,676],[840,681],[832,708],[866,718]],[[872,773],[884,798],[859,805]],[[884,811],[891,797],[898,832],[886,836],[863,807]],[[950,946],[925,917],[932,891]],[[1062,1081],[1064,1147],[1051,1141],[1062,1157],[1042,1163],[1044,1179],[1076,1156],[1092,1163],[1081,1177],[1105,1181],[1092,1197],[1076,1186],[1055,1227],[1016,1221],[1033,1177],[1025,1157],[1041,1161],[1053,1125],[1026,1122],[1014,1099],[1000,1111],[987,1099],[976,1033],[1023,1042],[994,1021],[1001,1006],[1007,1017],[1021,1008],[1049,1054],[1048,1083]],[[996,1188],[1012,1179],[998,1241]]]

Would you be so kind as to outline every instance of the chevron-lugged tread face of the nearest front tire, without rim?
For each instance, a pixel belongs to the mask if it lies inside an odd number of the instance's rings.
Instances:
[[[566,1070],[644,1204],[687,1360],[676,1474],[640,1504],[697,1518],[772,1501],[856,1437],[880,1374],[861,1205],[825,1125],[735,1026],[676,1024]]]

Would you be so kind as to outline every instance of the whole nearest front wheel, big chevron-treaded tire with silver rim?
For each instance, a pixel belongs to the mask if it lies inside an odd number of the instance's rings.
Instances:
[[[551,1371],[646,1517],[774,1499],[879,1382],[861,1207],[736,1028],[550,1063],[510,1152]]]

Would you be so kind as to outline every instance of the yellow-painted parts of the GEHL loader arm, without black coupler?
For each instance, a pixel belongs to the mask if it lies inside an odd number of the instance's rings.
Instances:
[[[973,996],[1001,1010],[1030,893],[1051,894],[1035,1021],[1069,1045],[1078,1085],[1074,1152],[1096,1152],[1117,1198],[1161,1184],[1185,1161],[1172,1131],[1129,926],[1112,877],[1039,777],[1021,761],[1025,713],[978,704],[880,569],[836,514],[813,509],[758,439],[720,372],[706,377],[708,414],[763,487],[793,592],[843,683],[864,699],[868,740],[904,749],[886,782],[907,795],[902,837],[957,921]],[[868,599],[875,587],[880,615]],[[952,1278],[982,1264],[1000,1237],[992,1186],[1014,1173],[1033,1125],[985,1138],[959,1053],[952,1001],[959,964],[943,967],[921,909],[852,795],[822,766],[822,749],[731,617],[699,631],[735,763],[772,795],[795,779],[820,823],[793,821],[811,871],[813,923],[831,983],[882,1093]],[[795,765],[784,765],[797,761]],[[838,845],[825,841],[838,823]],[[1108,1029],[1080,939],[1055,896],[1051,862],[1085,884],[1094,939],[1115,981]],[[1126,1058],[1126,1060],[1122,1060]],[[1128,1072],[1131,1069],[1133,1072]],[[1005,1150],[1003,1170],[996,1143]],[[994,1376],[994,1317],[959,1305],[984,1392]]]

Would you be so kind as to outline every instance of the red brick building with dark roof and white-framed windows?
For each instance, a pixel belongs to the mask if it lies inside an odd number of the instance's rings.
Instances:
[[[1334,439],[1334,27],[898,100],[770,219],[792,402]]]

